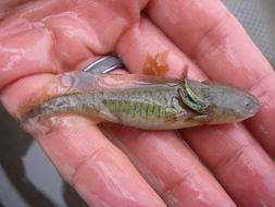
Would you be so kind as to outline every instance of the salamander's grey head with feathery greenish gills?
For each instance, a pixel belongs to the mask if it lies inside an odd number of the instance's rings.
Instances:
[[[232,123],[253,117],[259,110],[257,98],[243,90],[214,82],[184,80],[184,85],[183,102],[198,113],[192,120]]]

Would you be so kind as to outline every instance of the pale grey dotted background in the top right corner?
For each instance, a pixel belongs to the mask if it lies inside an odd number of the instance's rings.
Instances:
[[[223,0],[265,58],[275,65],[275,1]]]

